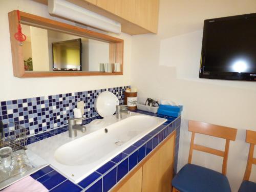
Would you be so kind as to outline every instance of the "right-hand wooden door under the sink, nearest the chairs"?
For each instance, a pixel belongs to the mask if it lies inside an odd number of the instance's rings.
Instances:
[[[173,179],[175,135],[143,165],[142,191],[169,192]]]

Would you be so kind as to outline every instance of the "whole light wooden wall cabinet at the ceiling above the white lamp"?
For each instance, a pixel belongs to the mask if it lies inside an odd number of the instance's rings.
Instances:
[[[47,0],[33,0],[47,5]],[[157,33],[159,0],[66,0],[121,23],[130,35]]]

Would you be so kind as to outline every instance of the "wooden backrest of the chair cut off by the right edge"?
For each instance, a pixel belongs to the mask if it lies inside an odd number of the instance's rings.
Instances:
[[[256,132],[246,130],[246,142],[250,143],[250,149],[244,174],[244,180],[249,180],[252,164],[256,164],[256,158],[253,158],[254,145],[256,144]]]

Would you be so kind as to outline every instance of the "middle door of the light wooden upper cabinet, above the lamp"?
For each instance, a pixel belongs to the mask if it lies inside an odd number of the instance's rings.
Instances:
[[[96,5],[129,22],[135,22],[136,0],[96,0]]]

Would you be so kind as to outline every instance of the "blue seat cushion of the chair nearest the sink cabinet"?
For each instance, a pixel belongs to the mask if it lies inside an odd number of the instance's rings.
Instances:
[[[186,164],[172,181],[180,192],[231,192],[225,175],[194,164]]]

